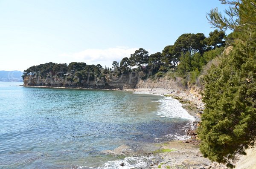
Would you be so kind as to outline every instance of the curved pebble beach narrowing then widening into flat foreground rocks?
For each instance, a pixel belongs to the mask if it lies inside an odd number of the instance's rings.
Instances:
[[[143,168],[149,169],[227,169],[225,164],[211,162],[209,159],[204,158],[199,150],[200,140],[196,134],[196,128],[200,125],[200,117],[204,110],[204,103],[201,100],[199,92],[184,91],[177,89],[163,89],[163,88],[137,88],[126,89],[132,92],[145,92],[157,95],[164,95],[172,97],[183,104],[183,108],[189,112],[190,115],[195,117],[192,129],[187,131],[187,135],[191,136],[189,140],[173,140],[170,142],[162,143],[161,150],[173,150],[161,152],[155,155],[155,159],[148,166]]]

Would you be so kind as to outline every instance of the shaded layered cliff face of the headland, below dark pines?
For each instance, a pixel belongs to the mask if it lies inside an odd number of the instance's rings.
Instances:
[[[24,86],[48,86],[48,87],[70,87],[88,89],[130,89],[135,88],[139,74],[136,72],[123,73],[120,76],[108,74],[105,77],[94,78],[93,80],[79,80],[74,77],[72,80],[65,76],[39,77],[29,75],[24,78]]]

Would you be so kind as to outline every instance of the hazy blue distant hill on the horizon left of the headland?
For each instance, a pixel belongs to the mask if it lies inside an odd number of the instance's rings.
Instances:
[[[15,81],[15,82],[22,82],[22,74],[23,72],[14,70],[14,71],[0,71],[0,81]]]

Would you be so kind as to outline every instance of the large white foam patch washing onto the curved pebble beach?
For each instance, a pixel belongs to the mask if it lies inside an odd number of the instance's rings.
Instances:
[[[182,118],[189,119],[191,121],[195,120],[192,115],[189,115],[189,113],[183,109],[182,104],[176,99],[165,97],[164,99],[156,102],[160,103],[157,115],[160,115],[161,117]]]

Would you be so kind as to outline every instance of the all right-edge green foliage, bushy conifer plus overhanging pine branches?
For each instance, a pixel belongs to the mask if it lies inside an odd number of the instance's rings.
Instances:
[[[245,154],[256,141],[256,29],[252,23],[256,17],[252,3],[256,2],[239,0],[236,7],[231,1],[221,1],[233,4],[226,13],[235,14],[225,19],[212,10],[209,18],[214,26],[235,29],[239,39],[233,41],[233,50],[221,64],[204,77],[206,107],[198,135],[204,157],[233,168],[235,155]],[[238,18],[233,20],[233,16]]]

